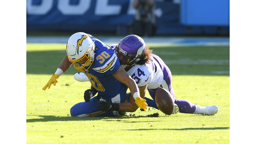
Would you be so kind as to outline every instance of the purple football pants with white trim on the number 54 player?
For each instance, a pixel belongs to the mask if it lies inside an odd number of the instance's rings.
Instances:
[[[173,90],[173,87],[172,87],[172,74],[171,74],[170,69],[165,65],[165,63],[163,62],[163,60],[160,57],[158,57],[156,55],[153,55],[153,57],[155,58],[155,60],[160,65],[161,69],[163,70],[163,74],[164,74],[164,81],[159,87],[162,87],[166,90],[169,90],[169,92],[173,96],[174,103],[177,104],[178,107],[179,107],[180,113],[190,113],[190,114],[192,114],[193,112],[195,112],[196,107],[195,107],[194,104],[192,104],[191,102],[189,102],[187,100],[180,100],[180,99],[175,98],[174,90]],[[150,106],[150,107],[157,108],[156,102],[155,102],[155,95],[156,95],[157,89],[158,88],[148,89],[148,92],[149,92],[150,96],[154,100],[154,102],[152,102],[151,99],[146,98],[148,106]]]

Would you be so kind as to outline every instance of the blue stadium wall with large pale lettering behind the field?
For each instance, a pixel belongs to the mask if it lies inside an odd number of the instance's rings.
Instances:
[[[129,34],[133,0],[27,0],[27,31]],[[229,0],[155,0],[156,35],[228,35]]]

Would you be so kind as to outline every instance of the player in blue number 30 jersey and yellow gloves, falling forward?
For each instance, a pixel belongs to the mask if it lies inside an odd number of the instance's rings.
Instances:
[[[97,96],[91,98],[94,95],[93,91],[85,91],[88,97],[84,97],[85,102],[77,103],[70,109],[71,116],[114,116],[118,115],[115,114],[117,111],[129,111],[133,104],[146,111],[146,100],[140,97],[135,80],[120,66],[115,52],[109,46],[90,34],[78,32],[68,39],[66,51],[66,56],[43,90],[47,87],[49,89],[51,84],[56,85],[59,76],[74,64],[77,70],[88,77],[91,87],[98,92]],[[125,102],[127,88],[133,94],[133,104]],[[111,105],[106,107],[100,102]],[[101,107],[107,110],[101,111]]]

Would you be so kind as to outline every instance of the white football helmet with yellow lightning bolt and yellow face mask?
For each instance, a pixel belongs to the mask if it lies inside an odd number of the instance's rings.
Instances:
[[[95,44],[88,34],[78,32],[70,36],[66,49],[69,61],[74,63],[74,67],[77,70],[86,71],[90,68],[94,61]],[[86,63],[79,63],[79,61],[84,58],[87,58]],[[88,68],[85,69],[85,67]]]

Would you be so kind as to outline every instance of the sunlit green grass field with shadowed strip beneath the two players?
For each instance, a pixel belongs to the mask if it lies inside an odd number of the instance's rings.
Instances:
[[[216,104],[220,112],[168,116],[149,108],[130,113],[132,117],[71,117],[70,108],[84,101],[83,92],[90,84],[76,81],[73,75],[78,71],[72,66],[56,86],[43,91],[66,54],[65,44],[27,44],[27,144],[230,143],[229,46],[151,48],[172,71],[177,99],[202,106]],[[150,117],[153,113],[159,117]]]

